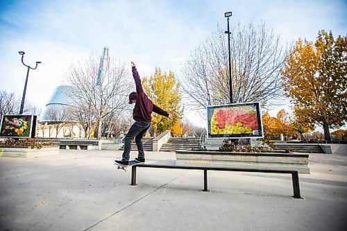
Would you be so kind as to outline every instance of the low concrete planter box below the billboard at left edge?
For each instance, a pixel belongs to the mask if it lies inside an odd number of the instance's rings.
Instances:
[[[58,154],[59,146],[46,146],[40,149],[31,147],[0,147],[0,157],[42,157]]]

